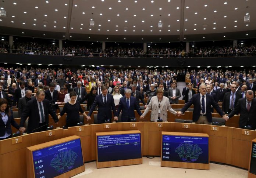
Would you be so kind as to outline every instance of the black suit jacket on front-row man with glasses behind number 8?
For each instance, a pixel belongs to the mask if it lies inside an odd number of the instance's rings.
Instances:
[[[47,99],[43,100],[43,108],[45,113],[45,123],[49,123],[49,114],[53,118],[54,122],[58,122],[58,118],[56,116],[56,113],[51,109],[50,102]],[[34,129],[39,127],[39,121],[40,121],[40,115],[39,115],[39,109],[38,109],[38,103],[36,99],[32,99],[27,102],[27,106],[24,110],[24,112],[21,115],[21,123],[19,126],[24,127],[25,120],[29,117],[28,120],[28,133],[32,133]]]

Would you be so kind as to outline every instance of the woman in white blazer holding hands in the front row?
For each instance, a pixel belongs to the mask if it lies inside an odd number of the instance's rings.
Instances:
[[[164,97],[163,94],[164,90],[162,88],[156,90],[156,96],[151,98],[145,112],[140,117],[141,119],[146,116],[149,110],[151,110],[150,120],[153,122],[157,122],[157,119],[160,118],[167,121],[167,111],[176,115],[177,112],[171,108],[169,98]]]

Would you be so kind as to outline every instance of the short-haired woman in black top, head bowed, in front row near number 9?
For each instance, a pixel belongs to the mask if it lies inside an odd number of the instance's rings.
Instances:
[[[83,116],[87,117],[80,103],[76,101],[76,98],[77,98],[77,93],[74,91],[71,91],[70,101],[65,103],[63,110],[61,111],[60,115],[58,115],[58,119],[60,119],[61,116],[64,115],[64,113],[67,113],[66,127],[77,126],[77,123],[80,122],[79,111],[82,113]]]

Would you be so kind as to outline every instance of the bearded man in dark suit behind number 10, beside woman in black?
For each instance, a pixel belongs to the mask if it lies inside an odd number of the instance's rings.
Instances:
[[[98,124],[102,124],[107,119],[112,118],[111,110],[113,110],[114,119],[118,120],[117,113],[115,112],[115,102],[113,95],[107,93],[107,87],[102,86],[102,94],[97,95],[87,116],[87,119],[91,119],[90,116],[94,109],[98,106],[97,120]]]

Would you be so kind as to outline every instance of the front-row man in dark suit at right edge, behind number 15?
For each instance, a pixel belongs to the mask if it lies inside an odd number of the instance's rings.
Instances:
[[[254,97],[254,92],[252,90],[246,91],[246,97],[240,98],[237,102],[237,105],[226,116],[224,119],[227,121],[230,117],[233,117],[235,114],[240,113],[239,117],[239,128],[244,128],[245,126],[251,126],[253,130],[256,129],[256,98]]]

